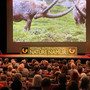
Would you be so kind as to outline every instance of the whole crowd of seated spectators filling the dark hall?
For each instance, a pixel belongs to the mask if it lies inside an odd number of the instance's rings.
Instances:
[[[0,90],[90,90],[89,60],[17,61],[0,58]]]

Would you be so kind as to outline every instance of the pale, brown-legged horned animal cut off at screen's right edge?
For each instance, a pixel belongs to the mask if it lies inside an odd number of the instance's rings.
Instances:
[[[86,23],[86,0],[73,0],[75,4],[73,8],[73,16],[76,24]]]

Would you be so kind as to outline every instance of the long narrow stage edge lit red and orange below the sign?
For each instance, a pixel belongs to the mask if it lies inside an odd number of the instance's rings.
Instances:
[[[90,59],[88,55],[25,55],[25,54],[2,54],[2,58],[80,58],[80,59]]]

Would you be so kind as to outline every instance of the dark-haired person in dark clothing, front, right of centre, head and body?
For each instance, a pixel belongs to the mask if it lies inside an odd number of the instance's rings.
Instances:
[[[59,84],[58,86],[53,87],[53,90],[66,90],[66,74],[61,73],[58,77]]]

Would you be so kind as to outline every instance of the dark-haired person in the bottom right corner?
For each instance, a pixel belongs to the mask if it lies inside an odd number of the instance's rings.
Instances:
[[[89,88],[90,79],[87,76],[82,77],[80,88],[82,90],[87,90]]]

